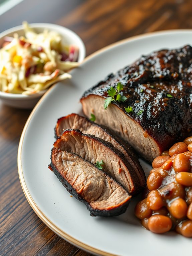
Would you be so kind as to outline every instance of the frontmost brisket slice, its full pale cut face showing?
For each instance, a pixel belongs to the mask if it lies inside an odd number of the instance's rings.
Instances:
[[[92,216],[124,213],[131,196],[113,178],[80,156],[53,148],[49,168]]]

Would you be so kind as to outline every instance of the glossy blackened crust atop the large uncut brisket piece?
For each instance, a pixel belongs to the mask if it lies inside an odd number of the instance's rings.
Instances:
[[[133,65],[86,91],[108,97],[108,89],[124,85],[125,103],[114,102],[157,142],[160,151],[168,149],[192,131],[192,47],[160,50],[142,56]],[[171,97],[171,96],[172,97]],[[134,113],[125,107],[132,106]],[[141,115],[137,113],[143,110]]]

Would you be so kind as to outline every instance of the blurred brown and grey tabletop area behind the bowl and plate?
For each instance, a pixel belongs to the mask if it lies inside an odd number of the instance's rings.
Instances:
[[[2,3],[9,1],[21,0]],[[23,20],[59,24],[82,38],[89,55],[133,35],[191,28],[191,8],[191,0],[23,0],[9,15],[0,16],[0,32],[20,25]]]

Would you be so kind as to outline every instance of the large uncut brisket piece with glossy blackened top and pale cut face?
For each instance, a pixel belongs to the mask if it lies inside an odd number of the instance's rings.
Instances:
[[[124,103],[113,101],[104,109],[110,87],[124,86]],[[152,161],[192,130],[192,47],[160,50],[86,91],[83,113],[113,129],[146,160]],[[125,107],[132,107],[127,113]]]

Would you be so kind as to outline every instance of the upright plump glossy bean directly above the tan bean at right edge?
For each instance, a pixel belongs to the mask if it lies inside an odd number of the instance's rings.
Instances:
[[[178,154],[173,160],[173,168],[175,172],[189,171],[189,160],[186,155]]]

